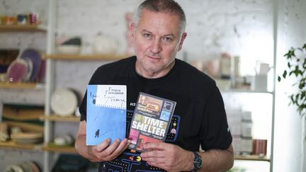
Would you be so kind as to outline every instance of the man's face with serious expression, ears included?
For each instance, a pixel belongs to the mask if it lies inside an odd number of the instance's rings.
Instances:
[[[138,25],[130,27],[137,55],[136,71],[146,78],[166,75],[174,66],[186,33],[181,35],[179,16],[144,10]]]

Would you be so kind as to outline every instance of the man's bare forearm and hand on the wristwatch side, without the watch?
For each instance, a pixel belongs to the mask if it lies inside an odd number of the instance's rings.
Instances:
[[[175,144],[164,142],[147,143],[148,151],[141,154],[142,159],[151,166],[163,168],[166,171],[191,171],[193,170],[194,154],[186,151]],[[211,149],[200,152],[203,166],[198,171],[227,171],[234,163],[232,145],[227,149]]]

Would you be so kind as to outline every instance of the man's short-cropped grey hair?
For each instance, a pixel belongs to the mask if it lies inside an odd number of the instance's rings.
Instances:
[[[165,12],[165,13],[172,13],[180,18],[180,30],[181,33],[185,32],[186,28],[186,16],[183,11],[183,8],[173,0],[145,0],[138,6],[137,11],[135,12],[133,22],[138,25],[140,22],[140,18],[142,17],[142,11],[145,9],[153,12]]]

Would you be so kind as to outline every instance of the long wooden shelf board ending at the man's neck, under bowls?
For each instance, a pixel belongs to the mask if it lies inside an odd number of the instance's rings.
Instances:
[[[62,60],[118,60],[131,55],[43,55],[45,59]]]

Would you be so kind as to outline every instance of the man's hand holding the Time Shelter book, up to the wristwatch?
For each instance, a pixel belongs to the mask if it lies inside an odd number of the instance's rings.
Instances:
[[[164,142],[146,143],[146,152],[142,152],[142,160],[147,164],[166,171],[191,171],[194,155],[175,144]]]

